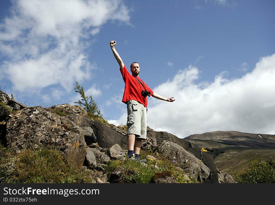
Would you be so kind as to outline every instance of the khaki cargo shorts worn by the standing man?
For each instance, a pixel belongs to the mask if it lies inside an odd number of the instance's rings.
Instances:
[[[127,136],[135,134],[138,138],[146,139],[147,108],[136,100],[129,100],[127,102],[127,112]]]

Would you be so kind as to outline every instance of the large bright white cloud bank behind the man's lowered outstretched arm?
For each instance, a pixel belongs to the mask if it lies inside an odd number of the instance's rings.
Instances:
[[[197,83],[197,67],[178,71],[153,90],[173,103],[148,99],[148,126],[179,138],[211,131],[275,134],[275,54],[260,59],[252,72],[227,79],[226,72],[212,82]],[[125,124],[125,115],[113,120]]]

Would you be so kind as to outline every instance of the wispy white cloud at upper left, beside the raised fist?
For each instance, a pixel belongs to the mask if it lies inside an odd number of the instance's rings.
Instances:
[[[89,79],[95,67],[84,52],[85,39],[109,20],[130,19],[120,0],[12,3],[12,16],[0,24],[0,52],[6,58],[0,73],[19,91],[57,84],[69,91],[75,81]]]

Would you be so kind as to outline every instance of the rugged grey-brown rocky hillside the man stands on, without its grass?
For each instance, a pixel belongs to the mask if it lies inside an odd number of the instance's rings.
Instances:
[[[88,118],[87,112],[78,105],[27,107],[9,99],[5,93],[0,93],[0,101],[0,137],[2,144],[8,148],[20,152],[23,149],[54,147],[63,152],[70,165],[100,170],[102,174],[97,183],[115,182],[114,179],[119,177],[116,173],[107,177],[104,168],[109,160],[126,159],[127,138],[123,130]],[[148,139],[143,141],[142,149],[153,150],[156,155],[163,154],[169,160],[183,164],[185,173],[202,183],[233,182],[230,175],[225,177],[217,173],[213,160],[207,154],[203,155],[200,163],[200,147],[173,134],[148,128]],[[175,182],[170,179],[171,174],[169,180],[152,181]]]

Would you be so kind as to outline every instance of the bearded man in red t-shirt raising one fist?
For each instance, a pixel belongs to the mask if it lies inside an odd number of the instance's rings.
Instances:
[[[139,152],[142,140],[146,139],[147,130],[147,96],[153,96],[159,100],[175,101],[173,97],[164,98],[154,93],[139,77],[139,63],[133,62],[130,66],[132,76],[127,71],[121,57],[115,49],[116,41],[110,41],[113,54],[120,66],[120,72],[125,82],[122,102],[127,104],[128,118],[128,158],[139,161]]]

